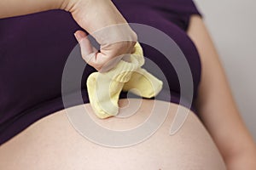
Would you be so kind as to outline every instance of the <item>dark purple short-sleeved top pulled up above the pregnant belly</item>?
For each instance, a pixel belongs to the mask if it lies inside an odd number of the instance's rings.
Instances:
[[[128,22],[154,26],[177,42],[192,71],[195,101],[201,62],[186,34],[190,15],[200,14],[195,4],[191,0],[114,0],[113,3]],[[0,20],[0,144],[33,122],[63,109],[61,76],[67,57],[77,44],[73,37],[77,30],[81,28],[71,14],[62,10]],[[179,82],[171,63],[154,48],[142,45],[144,55],[164,72],[171,88],[171,101],[179,103]],[[154,74],[147,63],[144,67]],[[81,82],[84,103],[89,103],[86,78],[93,71],[90,66],[84,70]],[[166,100],[165,89],[158,99]],[[125,98],[125,93],[120,98]],[[76,101],[71,105],[77,105]],[[189,109],[195,111],[194,103]]]

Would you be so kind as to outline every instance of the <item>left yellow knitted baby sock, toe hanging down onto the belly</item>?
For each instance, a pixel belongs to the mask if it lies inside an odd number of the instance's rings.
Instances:
[[[87,79],[90,105],[96,116],[107,118],[118,114],[119,94],[125,82],[131,78],[133,71],[139,67],[138,56],[131,54],[130,61],[120,60],[108,72],[94,72]]]

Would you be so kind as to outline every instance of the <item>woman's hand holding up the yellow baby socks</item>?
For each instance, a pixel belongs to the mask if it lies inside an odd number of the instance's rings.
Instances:
[[[90,41],[83,31],[75,33],[84,60],[96,70],[108,71],[121,59],[118,56],[131,54],[137,35],[110,0],[67,0],[61,8],[71,12],[79,26],[101,45],[96,52],[88,48]]]

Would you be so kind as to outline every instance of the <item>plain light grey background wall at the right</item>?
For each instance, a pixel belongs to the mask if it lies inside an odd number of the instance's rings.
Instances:
[[[256,140],[256,1],[195,3],[218,49],[241,116]]]

